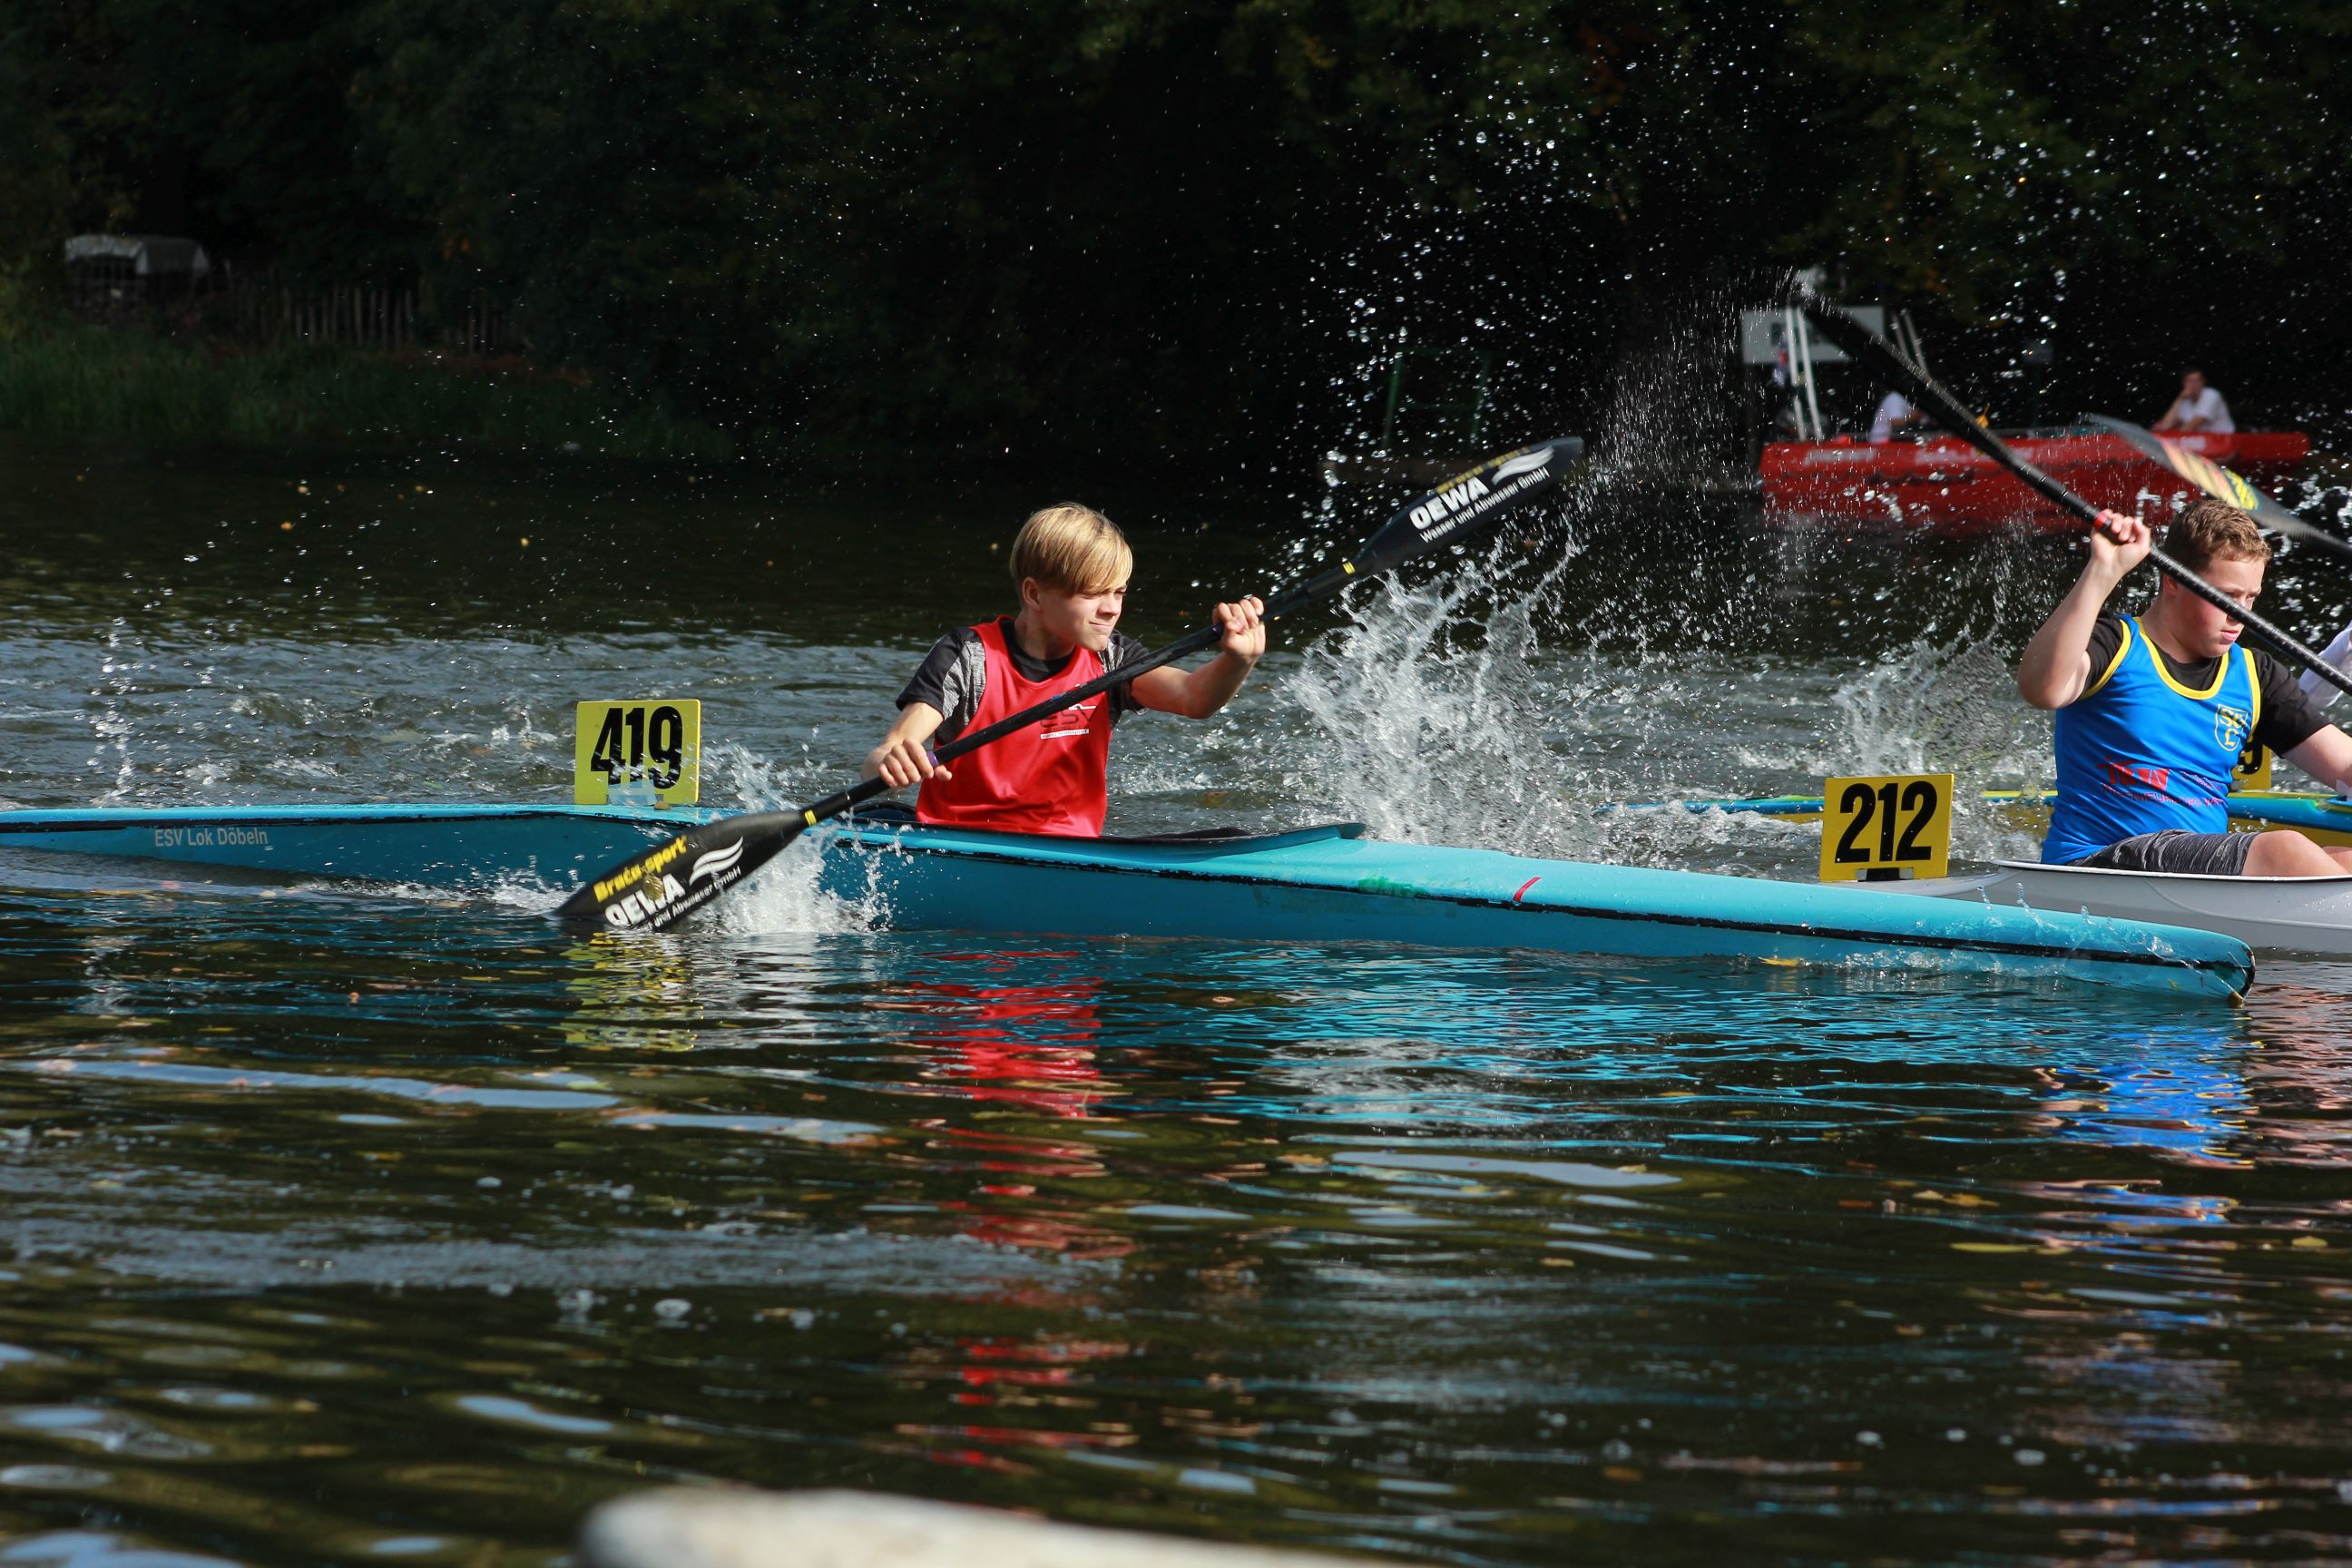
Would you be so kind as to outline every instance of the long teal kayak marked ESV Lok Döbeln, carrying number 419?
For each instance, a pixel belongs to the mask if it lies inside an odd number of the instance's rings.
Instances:
[[[0,811],[0,853],[66,851],[423,886],[574,886],[713,811],[181,806]],[[2253,983],[2244,943],[1860,886],[1390,844],[1348,825],[1056,839],[854,818],[809,835],[826,891],[894,929],[1376,940],[2042,976],[2190,997]]]

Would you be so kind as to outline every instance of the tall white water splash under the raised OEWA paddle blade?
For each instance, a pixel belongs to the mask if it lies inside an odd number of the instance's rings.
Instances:
[[[1282,682],[1305,719],[1294,792],[1392,839],[1661,858],[1651,823],[1599,809],[1672,792],[1691,719],[1722,686],[1705,668],[1722,607],[1682,604],[1651,623],[1592,583],[1613,567],[1595,541],[1621,545],[1628,505],[1661,482],[1686,484],[1693,442],[1724,421],[1719,386],[1696,371],[1724,357],[1736,315],[1672,320],[1628,364],[1609,425],[1550,517],[1510,520],[1442,578],[1350,597],[1348,625],[1303,654]],[[1717,820],[1700,832],[1745,830]]]

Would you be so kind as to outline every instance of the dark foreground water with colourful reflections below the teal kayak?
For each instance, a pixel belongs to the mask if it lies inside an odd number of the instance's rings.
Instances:
[[[0,926],[0,1528],[59,1561],[550,1561],[666,1476],[1435,1561],[2352,1537],[2331,966]]]

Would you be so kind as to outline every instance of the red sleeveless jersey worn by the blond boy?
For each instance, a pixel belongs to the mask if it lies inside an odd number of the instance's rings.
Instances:
[[[988,656],[981,710],[967,729],[1009,719],[1030,703],[1084,686],[1103,672],[1094,649],[1070,654],[1068,668],[1047,679],[1023,679],[1004,649],[997,621],[971,628]],[[1110,693],[1098,691],[1056,715],[1025,724],[1002,741],[948,764],[955,778],[927,778],[915,797],[915,820],[950,827],[1009,827],[1096,839],[1110,804],[1103,783],[1110,764]]]

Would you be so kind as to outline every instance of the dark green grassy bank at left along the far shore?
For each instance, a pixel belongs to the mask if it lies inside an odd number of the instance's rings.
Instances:
[[[59,322],[0,336],[0,430],[701,458],[734,442],[654,402],[524,367],[353,348],[228,348]]]

